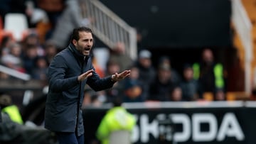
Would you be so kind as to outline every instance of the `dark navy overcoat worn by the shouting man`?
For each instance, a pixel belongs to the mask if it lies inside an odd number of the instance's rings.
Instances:
[[[114,84],[110,76],[100,78],[95,71],[91,77],[78,82],[78,76],[91,69],[94,69],[91,57],[82,55],[71,43],[55,55],[48,67],[49,91],[45,111],[48,130],[84,133],[81,106],[85,84],[95,91],[109,89]]]

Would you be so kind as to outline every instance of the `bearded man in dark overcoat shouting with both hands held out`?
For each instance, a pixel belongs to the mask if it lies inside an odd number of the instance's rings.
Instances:
[[[84,143],[81,106],[85,84],[100,91],[130,74],[130,70],[124,70],[100,78],[92,66],[92,45],[90,28],[75,28],[68,48],[55,55],[48,67],[45,127],[57,134],[60,144]]]

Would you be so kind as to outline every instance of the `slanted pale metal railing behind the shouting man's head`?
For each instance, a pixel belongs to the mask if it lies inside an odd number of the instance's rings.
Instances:
[[[124,43],[126,52],[130,57],[137,59],[137,32],[122,18],[107,8],[98,0],[84,0],[82,7],[84,18],[92,19],[90,28],[94,34],[102,40],[110,49],[116,43]]]

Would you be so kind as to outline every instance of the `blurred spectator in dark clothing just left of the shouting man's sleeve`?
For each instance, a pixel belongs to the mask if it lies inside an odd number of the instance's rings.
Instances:
[[[32,79],[47,80],[48,63],[46,57],[36,57],[36,65],[32,69]]]

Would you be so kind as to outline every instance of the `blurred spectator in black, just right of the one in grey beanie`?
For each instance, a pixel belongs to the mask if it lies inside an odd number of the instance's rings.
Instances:
[[[154,82],[149,87],[149,101],[170,101],[170,89],[176,86],[171,77],[169,63],[161,63]]]

